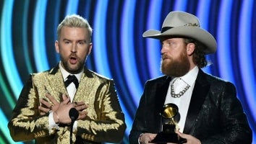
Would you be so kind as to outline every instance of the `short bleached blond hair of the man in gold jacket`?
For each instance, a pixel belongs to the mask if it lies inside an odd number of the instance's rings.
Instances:
[[[60,35],[61,35],[62,27],[80,27],[80,28],[85,28],[85,29],[88,30],[88,32],[90,34],[90,40],[91,40],[91,37],[92,37],[92,34],[93,34],[93,29],[92,29],[92,27],[90,27],[90,24],[89,24],[88,20],[84,19],[80,15],[77,15],[77,14],[67,15],[63,19],[63,21],[59,24],[59,26],[57,28],[58,40],[59,40]]]

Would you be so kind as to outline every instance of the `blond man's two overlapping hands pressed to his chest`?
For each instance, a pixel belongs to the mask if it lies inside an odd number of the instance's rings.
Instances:
[[[38,107],[41,111],[40,115],[45,115],[48,112],[54,112],[54,121],[57,123],[69,124],[71,122],[69,110],[73,107],[79,112],[77,120],[85,119],[88,114],[88,112],[84,111],[88,108],[87,104],[84,102],[71,103],[69,97],[65,94],[62,94],[63,102],[61,103],[54,99],[54,96],[51,96],[51,94],[46,94],[46,97],[48,99],[40,99],[40,106]]]

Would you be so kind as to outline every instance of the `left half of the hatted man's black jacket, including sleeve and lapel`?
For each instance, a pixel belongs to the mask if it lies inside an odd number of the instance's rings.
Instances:
[[[142,133],[157,134],[162,130],[160,114],[168,90],[169,79],[166,76],[146,81],[140,104],[137,108],[129,143],[137,144]]]

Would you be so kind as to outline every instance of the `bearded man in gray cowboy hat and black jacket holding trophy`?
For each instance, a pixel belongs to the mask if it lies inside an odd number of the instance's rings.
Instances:
[[[130,143],[252,143],[252,130],[234,84],[201,69],[208,64],[205,55],[215,53],[217,45],[195,15],[170,12],[161,31],[148,30],[143,37],[161,41],[165,76],[145,83]],[[166,107],[175,109],[167,115],[176,114],[166,118]],[[167,133],[166,124],[175,125],[174,133]],[[165,137],[158,137],[164,130]],[[177,140],[168,141],[175,134]]]

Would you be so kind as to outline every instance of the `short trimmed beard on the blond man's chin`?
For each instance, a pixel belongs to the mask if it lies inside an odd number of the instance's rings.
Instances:
[[[61,58],[61,63],[64,69],[67,72],[72,74],[80,73],[85,66],[85,60],[77,60],[77,63],[75,65],[72,65],[69,63],[69,58],[63,58],[63,57],[60,57],[60,58]]]

